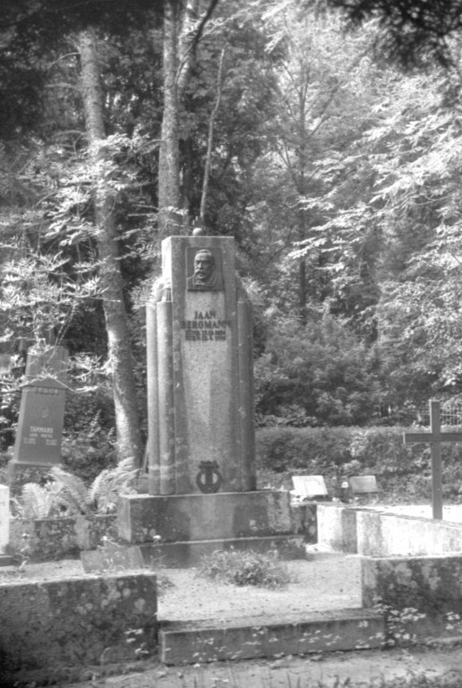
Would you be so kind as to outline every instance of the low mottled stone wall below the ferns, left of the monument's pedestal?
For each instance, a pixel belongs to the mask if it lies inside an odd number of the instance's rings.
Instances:
[[[10,520],[9,554],[23,552],[31,562],[47,562],[95,549],[102,538],[115,538],[116,514],[65,519]]]

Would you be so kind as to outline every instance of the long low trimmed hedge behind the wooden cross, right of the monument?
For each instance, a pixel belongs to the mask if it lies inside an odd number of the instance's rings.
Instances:
[[[423,428],[427,430],[428,428]],[[452,428],[454,429],[454,428]],[[430,499],[430,445],[405,445],[404,427],[271,427],[257,431],[257,466],[280,474],[279,486],[290,475],[322,475],[330,489],[345,477],[375,475],[385,495]],[[441,445],[443,496],[462,498],[462,446]],[[283,477],[284,476],[284,477]]]

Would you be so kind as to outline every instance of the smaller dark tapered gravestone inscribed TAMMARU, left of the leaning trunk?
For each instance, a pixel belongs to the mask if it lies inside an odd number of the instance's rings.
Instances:
[[[39,481],[50,467],[61,463],[66,363],[64,347],[28,355],[13,460],[8,465],[13,493],[26,482]]]

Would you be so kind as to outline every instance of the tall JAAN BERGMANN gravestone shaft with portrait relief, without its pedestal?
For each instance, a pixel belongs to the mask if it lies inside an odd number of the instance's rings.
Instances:
[[[255,489],[252,317],[234,239],[170,236],[147,308],[150,494]]]

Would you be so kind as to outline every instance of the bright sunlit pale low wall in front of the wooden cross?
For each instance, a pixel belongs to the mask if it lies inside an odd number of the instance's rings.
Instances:
[[[318,504],[318,540],[338,551],[364,556],[462,553],[462,523]]]

